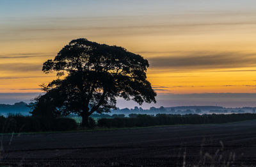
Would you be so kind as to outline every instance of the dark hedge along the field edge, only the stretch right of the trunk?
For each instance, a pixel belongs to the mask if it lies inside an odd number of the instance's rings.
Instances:
[[[228,123],[256,119],[256,114],[230,114],[230,115],[130,115],[130,118],[101,118],[99,127],[147,127],[156,125],[182,125]]]

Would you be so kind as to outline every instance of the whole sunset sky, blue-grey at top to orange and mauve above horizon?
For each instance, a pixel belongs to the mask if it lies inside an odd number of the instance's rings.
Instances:
[[[1,0],[0,103],[38,95],[42,63],[76,38],[146,58],[145,107],[256,106],[255,0]]]

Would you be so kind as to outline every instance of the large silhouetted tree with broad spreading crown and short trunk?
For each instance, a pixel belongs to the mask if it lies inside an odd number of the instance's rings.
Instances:
[[[123,47],[97,44],[84,38],[72,40],[54,60],[47,60],[42,70],[57,72],[56,80],[43,90],[62,113],[82,116],[88,125],[92,113],[116,109],[116,97],[138,104],[156,102],[156,92],[147,81],[148,61]],[[60,100],[56,100],[60,97]]]

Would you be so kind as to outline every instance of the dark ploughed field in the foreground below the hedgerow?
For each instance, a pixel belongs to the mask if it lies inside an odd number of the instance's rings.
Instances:
[[[13,166],[256,164],[256,120],[1,138],[1,164]]]

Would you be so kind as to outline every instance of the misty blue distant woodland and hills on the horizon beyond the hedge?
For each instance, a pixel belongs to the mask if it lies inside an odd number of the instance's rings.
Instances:
[[[7,116],[8,113],[21,113],[22,115],[30,115],[31,109],[25,102],[17,102],[15,104],[0,104],[0,115]],[[256,113],[256,107],[237,107],[225,108],[220,106],[177,106],[177,107],[150,107],[150,109],[143,109],[142,107],[117,108],[111,110],[111,114],[125,115],[137,113],[156,115],[159,113],[173,114],[173,115],[188,115],[188,114],[204,114],[204,113]],[[93,118],[114,118],[111,115],[93,114]],[[75,115],[74,115],[75,116]]]

